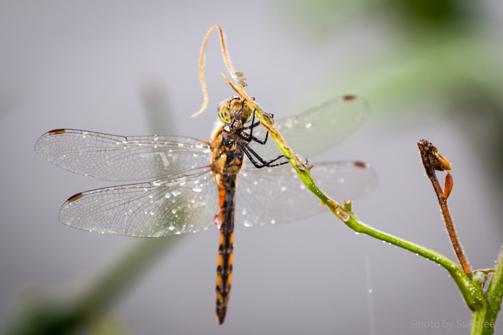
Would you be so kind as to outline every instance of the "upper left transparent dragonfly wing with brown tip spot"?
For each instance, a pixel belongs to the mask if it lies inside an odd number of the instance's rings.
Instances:
[[[73,129],[42,135],[35,151],[68,171],[111,181],[175,175],[211,159],[208,143],[189,137],[124,137]]]

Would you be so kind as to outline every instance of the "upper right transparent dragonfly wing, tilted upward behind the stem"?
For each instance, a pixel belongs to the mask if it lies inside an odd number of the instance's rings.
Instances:
[[[344,96],[296,116],[275,120],[275,124],[293,152],[313,157],[341,142],[363,123],[368,114],[365,100]],[[254,129],[254,136],[263,139],[265,135],[264,127]],[[251,142],[250,146],[268,159],[281,154],[273,140],[268,140],[265,145]]]

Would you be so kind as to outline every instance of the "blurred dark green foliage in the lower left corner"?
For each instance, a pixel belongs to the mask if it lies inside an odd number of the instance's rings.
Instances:
[[[9,335],[127,334],[110,309],[180,236],[144,238],[127,250],[80,294],[57,298],[37,291],[25,292],[6,329]]]

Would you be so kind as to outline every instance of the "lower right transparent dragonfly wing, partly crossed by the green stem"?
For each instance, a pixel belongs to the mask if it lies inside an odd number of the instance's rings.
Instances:
[[[285,223],[327,210],[289,164],[243,170],[236,189],[236,223],[248,227]],[[362,162],[317,163],[311,175],[326,194],[341,202],[366,195],[377,186],[374,170]]]

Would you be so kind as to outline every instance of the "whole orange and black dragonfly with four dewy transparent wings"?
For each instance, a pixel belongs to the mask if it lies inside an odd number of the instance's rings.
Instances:
[[[234,220],[246,227],[280,224],[324,208],[293,167],[285,164],[288,160],[273,141],[267,141],[268,132],[255,122],[255,111],[241,98],[228,98],[217,110],[220,123],[210,141],[56,129],[42,135],[35,150],[80,175],[137,181],[68,198],[59,210],[59,220],[68,226],[158,237],[216,224],[220,229],[216,314],[222,324],[232,281]],[[368,113],[364,100],[344,96],[275,124],[294,152],[311,157],[342,141]],[[377,184],[374,170],[360,161],[316,163],[311,175],[336,199],[361,197]]]

